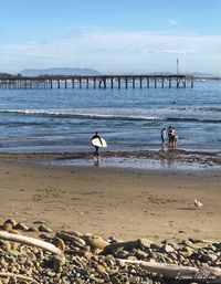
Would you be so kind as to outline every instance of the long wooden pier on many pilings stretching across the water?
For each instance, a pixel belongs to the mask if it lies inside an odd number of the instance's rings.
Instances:
[[[93,75],[0,77],[0,88],[136,88],[193,87],[192,75]]]

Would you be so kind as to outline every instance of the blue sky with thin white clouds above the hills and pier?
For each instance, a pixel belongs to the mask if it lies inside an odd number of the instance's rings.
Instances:
[[[0,0],[0,72],[221,75],[220,0]]]

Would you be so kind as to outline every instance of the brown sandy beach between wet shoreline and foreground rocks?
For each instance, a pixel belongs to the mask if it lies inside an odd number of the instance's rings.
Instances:
[[[59,167],[52,156],[1,155],[1,222],[122,240],[221,238],[220,170]]]

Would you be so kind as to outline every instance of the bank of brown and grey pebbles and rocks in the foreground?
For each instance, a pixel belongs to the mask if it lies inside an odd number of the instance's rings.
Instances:
[[[62,251],[62,254],[52,255],[39,248],[0,240],[0,272],[30,276],[39,284],[168,283],[138,264],[123,263],[118,259],[221,269],[221,242],[188,239],[180,243],[168,240],[154,243],[146,238],[124,242],[112,236],[106,241],[90,233],[53,232],[45,223],[38,230],[30,230],[32,227],[12,219],[1,228],[25,231],[25,234],[43,231],[46,234],[39,238]],[[0,280],[0,283],[9,284],[9,281]],[[28,281],[17,283],[30,284]]]

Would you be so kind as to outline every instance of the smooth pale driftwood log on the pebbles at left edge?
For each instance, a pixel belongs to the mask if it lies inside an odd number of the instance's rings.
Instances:
[[[61,250],[57,249],[55,245],[48,243],[45,241],[35,239],[35,238],[31,238],[31,236],[25,236],[25,235],[13,234],[13,233],[0,231],[0,239],[11,241],[11,242],[18,242],[18,243],[22,243],[22,244],[33,245],[33,246],[40,248],[42,250],[49,251],[54,254],[62,253]]]

